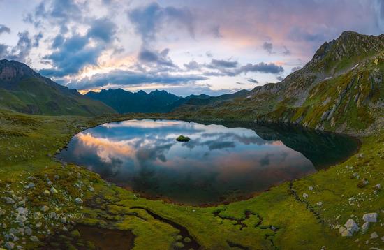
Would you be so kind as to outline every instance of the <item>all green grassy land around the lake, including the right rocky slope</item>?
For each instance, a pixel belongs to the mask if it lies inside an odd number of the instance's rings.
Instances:
[[[382,249],[383,40],[346,32],[283,82],[171,113],[0,110],[0,247],[118,249],[112,246],[119,242],[125,249]],[[210,207],[148,200],[54,158],[75,133],[140,118],[288,122],[355,135],[361,147],[327,170]],[[101,234],[108,240],[94,236]]]

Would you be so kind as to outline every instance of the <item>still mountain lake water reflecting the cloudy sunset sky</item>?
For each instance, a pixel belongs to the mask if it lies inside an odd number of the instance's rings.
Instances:
[[[189,142],[177,142],[186,135]],[[295,126],[129,120],[75,135],[58,158],[148,198],[192,205],[246,198],[344,161],[357,140]]]

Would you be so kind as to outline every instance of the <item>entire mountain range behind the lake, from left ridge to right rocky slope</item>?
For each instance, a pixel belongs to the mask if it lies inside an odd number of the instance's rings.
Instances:
[[[303,68],[278,83],[222,96],[166,91],[90,91],[63,87],[17,61],[0,61],[0,108],[43,115],[172,112],[196,120],[285,122],[330,131],[384,124],[384,35],[353,31],[326,42]]]

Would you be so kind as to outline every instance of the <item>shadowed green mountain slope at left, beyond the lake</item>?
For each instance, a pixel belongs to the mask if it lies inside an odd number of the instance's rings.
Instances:
[[[18,61],[0,60],[0,108],[39,115],[93,116],[114,113],[94,101],[53,82]]]

